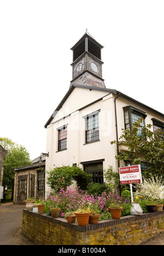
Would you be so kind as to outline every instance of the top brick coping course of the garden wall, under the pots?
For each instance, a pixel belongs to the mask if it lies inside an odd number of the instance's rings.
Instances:
[[[141,219],[148,219],[148,218],[151,218],[153,216],[155,217],[157,215],[164,215],[164,210],[163,210],[162,212],[143,213],[142,215],[122,216],[118,220],[107,219],[107,220],[98,221],[98,224],[88,224],[87,226],[79,226],[77,222],[68,223],[67,220],[64,219],[64,218],[54,219],[54,218],[52,218],[51,215],[48,215],[48,214],[45,214],[45,213],[44,214],[33,213],[32,211],[27,210],[27,209],[23,209],[23,212],[24,213],[28,212],[28,214],[37,216],[40,219],[48,220],[48,221],[50,221],[54,224],[60,224],[64,227],[69,227],[69,229],[76,230],[76,231],[79,231],[79,232],[91,231],[91,230],[99,229],[101,227],[113,226],[113,225],[122,224],[122,223],[125,223],[125,222],[141,220]]]

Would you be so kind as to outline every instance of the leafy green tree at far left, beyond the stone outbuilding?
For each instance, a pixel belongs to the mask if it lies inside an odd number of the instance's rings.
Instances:
[[[1,146],[8,151],[4,159],[3,186],[14,190],[14,169],[31,164],[30,154],[24,146],[18,145],[9,138],[0,137]]]

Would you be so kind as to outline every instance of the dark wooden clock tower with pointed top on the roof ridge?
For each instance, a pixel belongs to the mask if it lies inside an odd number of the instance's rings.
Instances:
[[[72,84],[106,88],[102,78],[102,60],[99,44],[86,30],[71,48],[73,51]]]

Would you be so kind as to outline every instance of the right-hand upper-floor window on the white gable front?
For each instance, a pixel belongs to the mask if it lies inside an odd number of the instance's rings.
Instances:
[[[99,140],[98,113],[86,117],[86,143]]]

